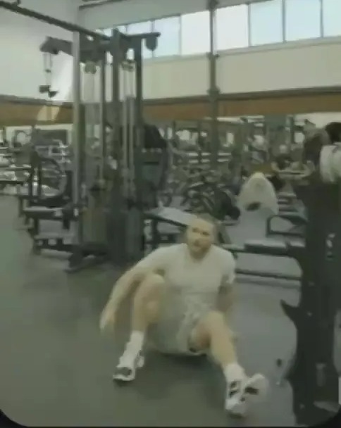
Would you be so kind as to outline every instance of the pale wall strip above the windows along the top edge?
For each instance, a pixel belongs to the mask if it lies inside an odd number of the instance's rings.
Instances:
[[[254,3],[262,0],[249,0]],[[233,6],[244,0],[220,0],[219,6]],[[206,9],[207,0],[125,0],[80,9],[80,23],[92,30],[144,20],[194,13]]]

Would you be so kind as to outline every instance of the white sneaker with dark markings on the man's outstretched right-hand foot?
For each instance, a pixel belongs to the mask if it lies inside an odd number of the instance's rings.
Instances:
[[[263,374],[254,374],[228,384],[225,410],[235,417],[244,417],[247,413],[247,400],[261,400],[266,396],[268,381]]]

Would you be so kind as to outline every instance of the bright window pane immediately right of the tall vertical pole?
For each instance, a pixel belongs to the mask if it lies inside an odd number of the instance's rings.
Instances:
[[[244,48],[249,45],[246,4],[218,9],[216,37],[218,51]]]

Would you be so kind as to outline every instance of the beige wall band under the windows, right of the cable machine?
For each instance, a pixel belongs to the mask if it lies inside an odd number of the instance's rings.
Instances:
[[[341,38],[223,52],[218,86],[223,94],[331,87],[341,84]],[[146,99],[202,96],[209,87],[206,56],[146,61]]]

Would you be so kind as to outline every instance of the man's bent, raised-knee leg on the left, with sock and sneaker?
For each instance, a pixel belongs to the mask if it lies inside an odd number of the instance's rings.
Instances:
[[[113,379],[129,382],[135,379],[137,367],[143,365],[144,339],[148,327],[159,319],[163,289],[163,277],[154,273],[147,275],[138,285],[132,301],[130,339],[120,357]]]

